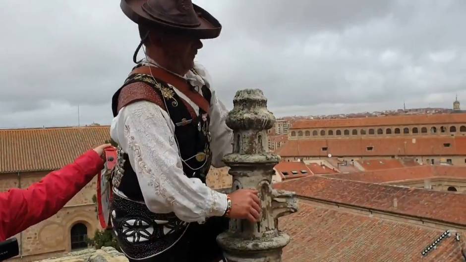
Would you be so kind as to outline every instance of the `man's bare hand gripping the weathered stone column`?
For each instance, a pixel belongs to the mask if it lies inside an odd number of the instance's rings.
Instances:
[[[232,209],[230,218],[247,219],[251,222],[260,220],[259,192],[255,189],[239,189],[230,194]]]

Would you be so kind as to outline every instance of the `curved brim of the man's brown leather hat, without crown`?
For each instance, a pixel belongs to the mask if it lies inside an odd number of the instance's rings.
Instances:
[[[147,0],[121,0],[120,7],[123,13],[136,24],[164,28],[182,34],[192,35],[199,39],[212,39],[220,35],[222,25],[215,17],[198,5],[193,4],[194,11],[200,14],[200,17],[198,17],[200,22],[199,26],[183,27],[151,17],[142,9],[142,5],[146,1]]]

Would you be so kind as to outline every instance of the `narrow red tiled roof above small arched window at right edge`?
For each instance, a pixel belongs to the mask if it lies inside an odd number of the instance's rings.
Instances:
[[[416,180],[432,177],[454,177],[466,179],[466,166],[422,165],[403,168],[328,175],[329,178],[387,183],[402,180]]]

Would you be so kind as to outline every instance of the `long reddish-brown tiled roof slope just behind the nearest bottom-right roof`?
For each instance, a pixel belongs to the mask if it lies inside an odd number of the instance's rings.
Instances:
[[[294,191],[304,198],[466,225],[466,194],[319,176],[277,183],[275,188]]]

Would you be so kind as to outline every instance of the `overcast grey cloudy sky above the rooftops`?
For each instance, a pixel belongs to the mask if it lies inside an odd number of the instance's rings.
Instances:
[[[278,116],[466,107],[465,0],[195,0],[223,25],[197,60],[229,106]],[[109,124],[137,27],[118,0],[0,2],[0,127]]]

